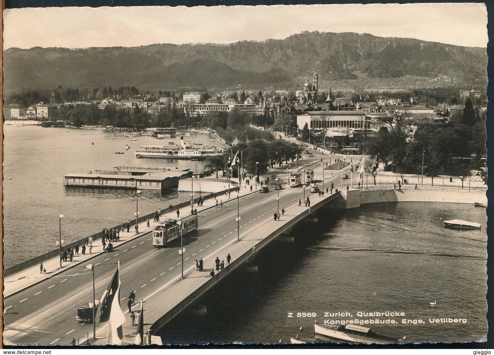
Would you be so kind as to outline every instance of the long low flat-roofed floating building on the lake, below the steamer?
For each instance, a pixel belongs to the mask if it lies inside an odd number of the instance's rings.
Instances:
[[[64,176],[65,186],[87,186],[104,188],[139,188],[164,190],[178,187],[178,181],[190,178],[192,172],[157,168],[118,167],[119,170],[96,170],[95,174],[71,173]],[[117,169],[117,167],[116,167]]]

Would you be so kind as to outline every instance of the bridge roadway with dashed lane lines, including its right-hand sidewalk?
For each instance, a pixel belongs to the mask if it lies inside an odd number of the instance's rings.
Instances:
[[[335,187],[338,186],[339,180],[338,177],[334,178]],[[311,206],[323,199],[318,194],[310,194],[308,188],[306,195],[311,197]],[[126,317],[123,344],[133,343],[136,331],[136,328],[131,326],[126,306],[126,296],[131,290],[137,290],[137,300],[143,298],[145,301],[145,330],[149,329],[153,322],[180,303],[184,296],[210,280],[208,274],[215,267],[216,256],[223,260],[227,253],[230,253],[235,260],[236,255],[252,249],[283,223],[307,210],[303,203],[302,207],[298,207],[298,199],[303,199],[303,189],[285,188],[280,191],[279,196],[280,211],[283,207],[286,213],[280,221],[274,221],[277,196],[277,191],[270,191],[239,198],[240,242],[237,242],[235,220],[237,199],[224,203],[223,207],[212,207],[199,213],[199,229],[184,237],[184,280],[180,279],[182,266],[178,253],[179,238],[172,241],[168,248],[157,249],[152,246],[152,235],[143,234],[111,253],[92,258],[90,263],[95,265],[97,299],[110,283],[117,260],[121,262],[121,303]],[[220,198],[218,196],[218,199]],[[328,195],[324,198],[328,198]],[[195,270],[195,259],[201,257],[204,260],[204,272]],[[92,298],[92,275],[84,265],[86,263],[65,270],[56,277],[5,299],[4,307],[13,307],[3,314],[4,339],[21,344],[67,345],[72,338],[79,339],[80,342],[85,341],[89,334],[92,343],[92,324],[76,320],[78,306],[88,303]],[[138,310],[140,306],[136,305],[132,309]],[[106,343],[107,329],[107,322],[96,327],[98,340],[95,344]]]

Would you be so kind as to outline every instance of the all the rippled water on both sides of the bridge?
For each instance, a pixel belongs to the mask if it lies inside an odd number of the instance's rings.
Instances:
[[[168,139],[138,137],[131,142],[110,131],[8,125],[4,137],[5,267],[55,249],[60,213],[65,215],[62,236],[68,241],[133,217],[133,191],[66,188],[65,174],[117,165],[202,168],[199,162],[136,159],[130,150],[115,154],[127,143],[137,149],[141,144],[166,144]],[[202,136],[186,140],[204,142]],[[188,193],[176,190],[143,190],[139,209],[148,213],[188,198]],[[443,228],[442,221],[453,218],[479,222],[482,230]],[[205,317],[178,317],[162,331],[163,339],[289,342],[296,334],[313,337],[314,320],[348,319],[324,317],[325,312],[349,312],[357,318],[357,312],[374,311],[404,312],[404,317],[384,317],[398,324],[372,328],[406,336],[407,341],[474,341],[486,335],[485,209],[421,202],[374,204],[324,210],[319,221],[298,226],[294,244],[275,242],[262,250],[254,260],[259,266],[256,276],[232,274],[202,299],[208,308]],[[430,306],[432,301],[437,304]],[[317,316],[299,318],[298,312]],[[441,318],[466,323],[429,321]],[[424,323],[401,324],[402,319]]]

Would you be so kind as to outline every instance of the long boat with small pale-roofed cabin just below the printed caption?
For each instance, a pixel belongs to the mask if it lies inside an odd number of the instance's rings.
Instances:
[[[322,325],[314,324],[314,332],[332,339],[345,342],[362,344],[390,344],[398,342],[398,339],[374,333],[371,328],[356,324],[346,325]]]

